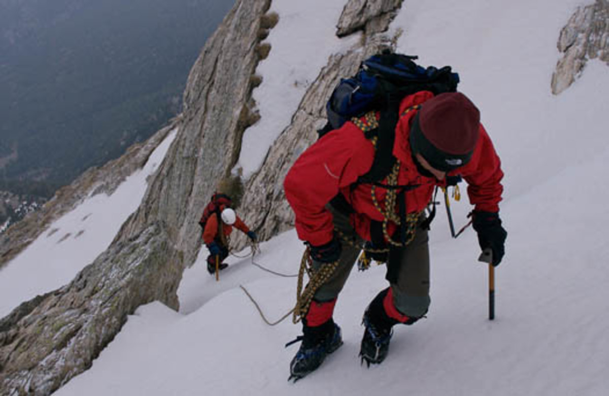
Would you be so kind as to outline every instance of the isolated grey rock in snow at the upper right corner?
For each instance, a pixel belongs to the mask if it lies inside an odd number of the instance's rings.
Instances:
[[[558,50],[564,53],[552,75],[552,93],[560,94],[581,75],[589,59],[609,65],[609,2],[596,0],[578,7],[560,31]]]

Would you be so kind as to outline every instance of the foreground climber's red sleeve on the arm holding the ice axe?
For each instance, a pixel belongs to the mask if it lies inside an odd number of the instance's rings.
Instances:
[[[503,193],[501,160],[487,131],[480,125],[480,137],[470,162],[462,168],[467,193],[475,210],[496,213]]]

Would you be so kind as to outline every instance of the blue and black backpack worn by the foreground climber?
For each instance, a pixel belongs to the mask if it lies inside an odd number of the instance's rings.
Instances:
[[[417,59],[418,56],[390,50],[371,56],[362,62],[355,77],[340,80],[326,103],[328,123],[317,131],[319,138],[353,117],[362,117],[373,110],[381,114],[378,128],[366,133],[367,138],[377,138],[373,165],[357,183],[378,184],[390,174],[396,162],[393,142],[404,97],[421,90],[429,90],[434,95],[457,90],[459,75],[452,72],[450,66],[425,68],[414,62]]]

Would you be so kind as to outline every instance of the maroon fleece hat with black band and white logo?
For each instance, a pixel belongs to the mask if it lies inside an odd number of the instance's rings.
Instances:
[[[480,111],[460,92],[437,95],[421,105],[410,128],[410,147],[440,171],[471,159],[479,135]]]

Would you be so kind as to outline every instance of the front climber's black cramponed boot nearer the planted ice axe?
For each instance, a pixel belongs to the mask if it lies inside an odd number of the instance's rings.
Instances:
[[[379,364],[387,357],[389,352],[389,341],[393,335],[392,327],[400,323],[396,319],[390,318],[383,307],[383,299],[387,295],[387,290],[379,293],[364,312],[362,324],[364,324],[364,337],[359,356],[370,367],[370,363]]]

